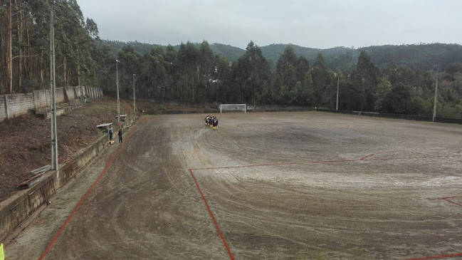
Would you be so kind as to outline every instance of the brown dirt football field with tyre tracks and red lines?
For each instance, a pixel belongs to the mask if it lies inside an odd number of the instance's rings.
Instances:
[[[462,125],[148,115],[6,259],[461,259]]]

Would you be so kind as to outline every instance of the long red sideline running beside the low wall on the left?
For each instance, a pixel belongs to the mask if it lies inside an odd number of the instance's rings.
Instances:
[[[119,146],[119,148],[117,149],[117,151],[115,151],[115,154],[112,155],[112,157],[110,158],[109,162],[107,162],[105,168],[103,169],[103,172],[100,173],[100,176],[98,176],[98,179],[95,180],[95,182],[93,183],[93,185],[91,185],[90,189],[88,189],[88,191],[85,193],[85,195],[83,195],[82,199],[80,199],[80,201],[78,202],[77,206],[75,206],[74,210],[72,213],[70,213],[69,217],[67,219],[65,219],[65,222],[63,224],[63,226],[61,226],[61,228],[58,230],[58,232],[56,233],[56,235],[53,237],[53,239],[51,240],[50,244],[48,244],[48,246],[46,247],[45,251],[43,252],[43,254],[40,256],[40,258],[38,258],[38,260],[42,260],[46,254],[48,254],[48,251],[50,251],[51,247],[53,246],[53,244],[56,243],[56,241],[58,240],[58,237],[59,235],[61,235],[61,233],[64,231],[65,229],[65,226],[68,225],[68,223],[70,222],[70,219],[72,219],[74,217],[74,214],[76,212],[78,212],[78,210],[80,209],[80,207],[82,206],[83,202],[85,202],[85,200],[87,199],[88,195],[90,195],[90,193],[93,191],[93,189],[96,187],[96,184],[98,184],[98,182],[101,180],[101,177],[103,177],[103,175],[105,174],[105,172],[107,172],[107,169],[110,167],[110,165],[112,165],[112,162],[114,162],[115,160],[115,157],[117,157],[117,155],[119,155],[120,151],[122,150],[122,148],[125,146],[125,144],[127,143],[127,139],[130,139],[130,137],[133,135],[133,133],[135,133],[135,130],[137,130],[138,126],[135,126],[135,128],[132,130],[132,132],[130,132],[130,135],[128,135],[127,137],[125,137],[125,142],[122,142],[122,144]]]

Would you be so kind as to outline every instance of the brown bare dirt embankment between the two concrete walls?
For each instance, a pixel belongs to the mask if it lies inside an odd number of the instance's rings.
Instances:
[[[103,135],[96,125],[117,125],[116,104],[114,98],[104,97],[58,116],[59,163]],[[120,110],[131,117],[132,102],[121,100]],[[0,201],[17,192],[15,184],[29,177],[32,170],[50,164],[50,128],[50,120],[33,115],[22,115],[0,123]]]

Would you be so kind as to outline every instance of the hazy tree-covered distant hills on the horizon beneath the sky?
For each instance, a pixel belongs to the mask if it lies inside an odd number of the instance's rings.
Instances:
[[[130,45],[135,48],[135,51],[144,55],[151,51],[152,48],[159,46],[157,44],[140,43],[138,41],[122,42],[122,41],[102,41],[103,44],[110,46],[112,53],[125,45]],[[199,48],[200,43],[194,43]],[[359,53],[364,50],[372,58],[372,62],[380,68],[388,66],[390,63],[397,65],[409,66],[413,69],[431,70],[436,68],[439,63],[441,68],[444,68],[448,63],[462,62],[462,46],[459,44],[446,43],[431,43],[431,44],[411,44],[411,45],[385,45],[385,46],[369,46],[364,48],[307,48],[293,44],[271,44],[261,46],[263,56],[270,61],[273,66],[278,61],[284,49],[287,46],[292,46],[295,54],[304,56],[310,61],[310,66],[315,63],[317,53],[322,53],[325,57],[327,66],[333,71],[352,71],[356,67]],[[162,46],[166,48],[166,46]],[[179,45],[174,46],[177,50]],[[225,45],[221,43],[212,43],[210,48],[219,56],[227,58],[231,62],[235,62],[246,51],[242,48]]]

